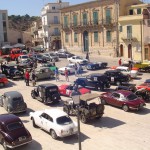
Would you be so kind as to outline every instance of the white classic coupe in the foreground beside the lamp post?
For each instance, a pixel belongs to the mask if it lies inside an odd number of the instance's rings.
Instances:
[[[38,126],[49,132],[53,139],[70,136],[78,132],[77,123],[59,109],[31,112],[30,118],[34,127]]]

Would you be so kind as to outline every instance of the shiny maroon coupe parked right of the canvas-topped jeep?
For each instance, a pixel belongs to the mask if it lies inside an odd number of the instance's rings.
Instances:
[[[126,112],[130,109],[139,110],[145,106],[145,102],[142,98],[139,98],[133,92],[126,90],[103,93],[101,94],[100,99],[102,104],[120,107]]]

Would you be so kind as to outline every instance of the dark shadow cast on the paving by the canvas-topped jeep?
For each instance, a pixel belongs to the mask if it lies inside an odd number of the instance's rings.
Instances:
[[[125,122],[110,117],[102,117],[99,120],[91,120],[88,124],[100,128],[115,128],[125,124]]]

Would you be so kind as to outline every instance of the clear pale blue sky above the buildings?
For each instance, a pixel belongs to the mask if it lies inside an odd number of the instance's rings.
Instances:
[[[90,0],[62,0],[70,5],[88,2]],[[92,1],[92,0],[91,0]],[[8,10],[8,15],[41,16],[41,9],[47,3],[57,0],[0,0],[0,10]]]

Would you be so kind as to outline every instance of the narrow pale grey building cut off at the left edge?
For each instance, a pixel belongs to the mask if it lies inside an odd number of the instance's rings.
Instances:
[[[0,47],[8,43],[8,13],[0,10]]]

